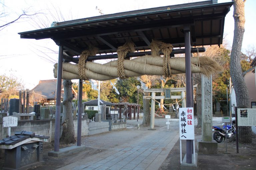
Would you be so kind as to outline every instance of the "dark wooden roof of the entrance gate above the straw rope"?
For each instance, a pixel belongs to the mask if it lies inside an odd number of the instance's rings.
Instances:
[[[233,2],[217,0],[142,9],[65,22],[53,22],[50,28],[18,33],[25,39],[52,39],[63,45],[64,58],[73,61],[87,49],[96,46],[99,54],[116,52],[127,40],[136,50],[150,49],[159,40],[183,47],[184,25],[189,25],[191,45],[220,45],[224,20]]]

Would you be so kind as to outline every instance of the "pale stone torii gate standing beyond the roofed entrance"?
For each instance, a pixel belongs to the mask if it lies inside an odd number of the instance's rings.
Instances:
[[[193,88],[197,87],[194,85]],[[143,99],[151,99],[151,112],[150,112],[150,130],[154,130],[155,127],[155,100],[156,99],[184,99],[181,104],[182,107],[186,107],[185,99],[186,87],[178,88],[162,88],[162,89],[145,89],[143,92],[150,92],[151,96],[143,96]],[[156,93],[164,92],[165,96],[156,96]],[[181,92],[180,96],[172,96],[171,92]]]

